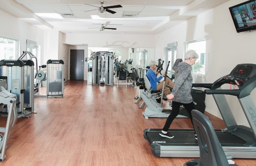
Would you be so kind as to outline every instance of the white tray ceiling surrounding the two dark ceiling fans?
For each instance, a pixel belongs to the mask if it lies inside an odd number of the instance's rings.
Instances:
[[[100,0],[0,0],[0,9],[39,28],[63,33],[156,34],[227,1],[105,0],[103,6],[122,6],[110,9],[115,14],[100,13],[94,7],[100,7]],[[63,18],[39,17],[41,13],[57,13]],[[109,23],[106,28],[117,30],[99,31],[100,24],[106,22]]]

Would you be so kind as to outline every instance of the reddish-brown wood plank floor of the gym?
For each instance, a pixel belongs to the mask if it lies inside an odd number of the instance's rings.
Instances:
[[[30,119],[17,120],[4,166],[183,166],[192,158],[160,158],[143,137],[145,128],[162,128],[165,118],[144,119],[133,86],[92,86],[68,81],[64,98],[36,98]],[[167,106],[165,103],[164,106]],[[210,116],[209,114],[206,114]],[[222,120],[210,116],[215,128]],[[1,127],[6,117],[0,117]],[[192,128],[176,118],[171,128]],[[234,159],[239,166],[256,160]]]

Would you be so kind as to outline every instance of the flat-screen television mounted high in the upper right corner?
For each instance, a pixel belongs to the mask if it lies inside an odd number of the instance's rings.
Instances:
[[[256,30],[256,0],[248,0],[229,8],[236,32]]]

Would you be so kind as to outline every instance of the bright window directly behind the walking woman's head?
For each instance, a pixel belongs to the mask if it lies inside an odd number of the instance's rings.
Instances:
[[[186,42],[186,51],[187,50],[195,50],[198,54],[198,59],[192,66],[192,73],[205,75],[205,39]]]

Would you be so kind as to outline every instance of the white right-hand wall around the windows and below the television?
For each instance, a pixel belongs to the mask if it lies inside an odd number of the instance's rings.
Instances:
[[[213,83],[241,63],[256,64],[256,31],[236,33],[229,7],[244,0],[230,0],[197,17],[156,35],[156,59],[163,58],[168,43],[177,42],[177,56],[183,58],[184,43],[206,39],[206,76],[195,76],[195,83]],[[256,91],[251,94],[256,99]],[[247,125],[235,97],[227,96],[239,124]],[[206,111],[221,117],[213,97],[207,95]]]

